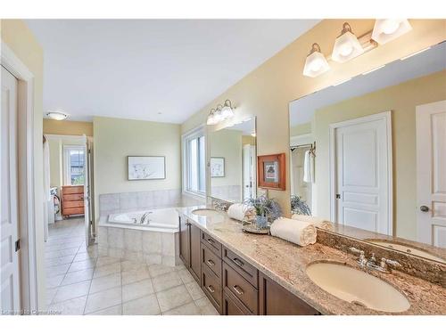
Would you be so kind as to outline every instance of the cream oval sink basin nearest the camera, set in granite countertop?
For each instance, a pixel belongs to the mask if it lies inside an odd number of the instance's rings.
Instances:
[[[363,271],[335,263],[314,263],[307,267],[311,281],[347,302],[376,311],[404,312],[410,304],[392,285]]]

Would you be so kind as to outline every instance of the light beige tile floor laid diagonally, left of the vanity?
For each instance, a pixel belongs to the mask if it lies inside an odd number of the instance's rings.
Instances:
[[[61,314],[218,314],[184,265],[144,265],[86,248],[83,219],[56,222],[45,245],[47,310]]]

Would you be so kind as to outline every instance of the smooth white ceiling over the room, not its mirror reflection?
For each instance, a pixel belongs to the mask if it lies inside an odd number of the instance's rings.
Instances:
[[[318,20],[27,20],[44,110],[182,123]]]

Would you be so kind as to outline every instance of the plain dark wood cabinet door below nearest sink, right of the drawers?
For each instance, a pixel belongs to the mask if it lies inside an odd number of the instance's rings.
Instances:
[[[313,307],[305,303],[272,281],[263,273],[259,275],[259,310],[260,315],[318,315]]]

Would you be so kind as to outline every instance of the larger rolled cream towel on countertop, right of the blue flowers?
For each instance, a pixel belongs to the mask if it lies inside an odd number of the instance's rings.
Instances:
[[[270,228],[271,235],[297,243],[300,246],[311,245],[316,242],[316,227],[308,222],[278,218]]]

